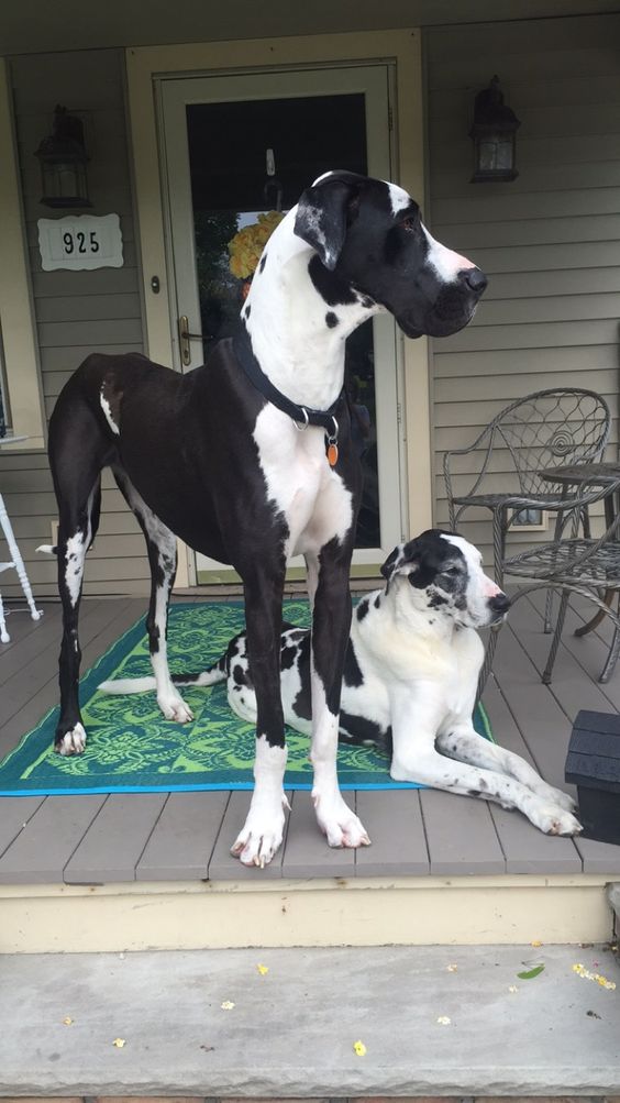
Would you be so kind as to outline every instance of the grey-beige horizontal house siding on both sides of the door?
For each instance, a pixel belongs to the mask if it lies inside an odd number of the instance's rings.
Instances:
[[[435,517],[447,523],[445,450],[471,442],[506,403],[546,386],[600,390],[618,400],[620,317],[620,15],[432,28],[424,33],[429,150],[427,217],[441,240],[489,274],[473,323],[431,344]],[[124,54],[38,54],[10,62],[24,191],[45,411],[93,351],[142,351],[143,323],[127,154]],[[475,93],[498,72],[522,120],[520,176],[471,184]],[[85,113],[94,214],[120,215],[122,268],[41,270],[39,164],[56,103]],[[610,456],[617,454],[616,425]],[[470,470],[462,463],[459,489]],[[496,468],[501,481],[503,469]],[[49,543],[56,506],[41,452],[0,453],[0,488],[38,597],[55,592]],[[463,534],[490,560],[485,518]],[[525,534],[515,539],[525,539]],[[0,546],[0,558],[2,548]],[[138,525],[109,473],[85,592],[143,593],[148,564]],[[19,595],[14,572],[2,592]]]

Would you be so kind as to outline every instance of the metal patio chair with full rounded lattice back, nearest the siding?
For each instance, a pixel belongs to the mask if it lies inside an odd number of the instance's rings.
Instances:
[[[605,398],[580,387],[537,390],[504,407],[467,448],[443,456],[443,479],[450,527],[458,531],[466,510],[490,511],[493,568],[498,586],[503,585],[506,535],[524,511],[556,515],[556,539],[573,510],[579,510],[584,536],[589,538],[588,506],[599,501],[600,488],[569,496],[566,485],[545,479],[543,472],[562,464],[597,461],[607,445],[611,414]],[[471,457],[471,462],[466,457]],[[464,468],[467,474],[457,473]],[[475,468],[477,474],[471,474]],[[463,482],[469,483],[462,490]],[[578,500],[578,505],[576,505]],[[558,518],[558,520],[557,520]],[[550,591],[549,591],[550,597]],[[547,601],[545,629],[550,628]],[[480,692],[492,665],[496,631],[489,636]]]

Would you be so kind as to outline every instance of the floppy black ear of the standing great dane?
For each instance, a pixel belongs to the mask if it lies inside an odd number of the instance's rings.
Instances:
[[[330,271],[338,264],[363,180],[353,172],[331,172],[307,188],[299,200],[295,233],[317,250]]]

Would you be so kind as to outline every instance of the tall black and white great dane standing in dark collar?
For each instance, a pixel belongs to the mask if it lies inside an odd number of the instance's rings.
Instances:
[[[92,355],[58,397],[50,460],[58,500],[63,603],[61,717],[55,748],[79,754],[78,608],[86,552],[110,467],[147,539],[147,619],[163,715],[191,714],[170,677],[167,611],[175,537],[232,564],[244,583],[256,687],[255,789],[233,854],[270,861],[286,797],[280,699],[286,563],[306,558],[312,618],[311,759],[317,818],[330,846],[367,845],[336,778],[340,690],[351,621],[349,567],[361,469],[343,396],[344,342],[389,311],[410,338],[456,333],[487,286],[470,260],[436,242],[395,184],[321,176],[279,224],[242,310],[238,338],[180,375],[139,355]],[[329,449],[327,443],[330,443]]]

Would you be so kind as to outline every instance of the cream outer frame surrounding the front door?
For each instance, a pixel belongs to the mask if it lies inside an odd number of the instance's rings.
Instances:
[[[173,319],[169,293],[167,222],[158,143],[154,81],[161,76],[210,76],[256,69],[392,63],[395,179],[425,205],[423,66],[420,32],[355,32],[303,38],[137,46],[126,51],[133,183],[149,356],[173,366]],[[154,290],[157,287],[157,290]],[[431,523],[431,451],[428,342],[403,342],[404,421],[410,532]],[[177,586],[193,582],[193,554],[179,544]]]

